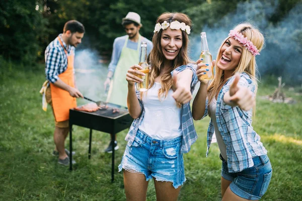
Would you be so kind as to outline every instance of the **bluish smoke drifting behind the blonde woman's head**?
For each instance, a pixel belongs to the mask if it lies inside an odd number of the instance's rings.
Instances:
[[[258,27],[265,37],[265,47],[256,56],[258,78],[267,75],[282,76],[286,85],[300,85],[302,82],[302,4],[297,4],[288,16],[277,25],[269,19],[278,6],[278,1],[249,1],[239,3],[237,10],[223,17],[212,28],[207,25],[202,32],[207,34],[209,51],[216,59],[217,50],[229,31],[241,22],[249,22]],[[199,58],[200,36],[192,36],[190,57]]]

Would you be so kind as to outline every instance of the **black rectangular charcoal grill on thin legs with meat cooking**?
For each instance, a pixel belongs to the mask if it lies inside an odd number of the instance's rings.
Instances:
[[[131,126],[133,119],[130,117],[126,108],[115,105],[107,104],[107,110],[98,110],[96,112],[85,112],[74,109],[69,110],[69,169],[72,170],[72,125],[82,126],[90,129],[89,134],[89,150],[88,158],[91,158],[91,141],[92,130],[97,130],[115,135]],[[112,113],[113,108],[119,108],[119,113]],[[114,141],[112,141],[112,166],[111,166],[111,181],[114,180]]]

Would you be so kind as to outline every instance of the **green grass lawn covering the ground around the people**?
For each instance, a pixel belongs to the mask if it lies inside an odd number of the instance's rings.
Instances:
[[[41,109],[39,89],[44,81],[40,69],[0,69],[0,200],[125,200],[123,174],[117,171],[127,131],[118,133],[120,149],[115,157],[115,181],[111,183],[111,155],[103,153],[109,135],[93,131],[92,158],[88,159],[89,129],[74,126],[74,171],[57,164],[50,153],[53,117]],[[17,70],[13,70],[17,69]],[[101,82],[100,82],[101,83]],[[258,96],[274,91],[262,84]],[[253,126],[268,150],[273,176],[262,200],[300,200],[302,194],[302,98],[286,92],[295,105],[274,104],[258,98]],[[80,102],[86,103],[86,102]],[[179,200],[220,200],[219,149],[213,144],[206,158],[209,119],[195,122],[199,135],[184,155],[187,181]],[[68,147],[68,140],[66,140]],[[156,200],[153,181],[147,200]]]

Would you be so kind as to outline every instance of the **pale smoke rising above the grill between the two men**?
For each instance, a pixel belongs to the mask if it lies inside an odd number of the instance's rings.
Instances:
[[[98,52],[91,49],[75,51],[74,70],[78,89],[95,101],[106,100],[104,81],[107,76],[107,64],[101,63]],[[85,100],[87,101],[87,100]],[[80,100],[80,103],[83,102]]]

